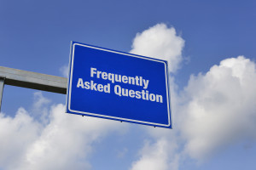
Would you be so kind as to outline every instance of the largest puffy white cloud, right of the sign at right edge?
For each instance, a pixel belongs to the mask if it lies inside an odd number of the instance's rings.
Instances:
[[[180,126],[189,156],[201,161],[230,144],[256,139],[255,84],[255,63],[243,56],[190,77]]]

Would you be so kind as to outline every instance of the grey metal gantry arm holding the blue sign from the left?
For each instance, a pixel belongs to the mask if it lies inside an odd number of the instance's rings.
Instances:
[[[4,85],[67,94],[67,78],[0,66],[0,111]]]

